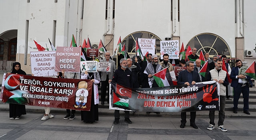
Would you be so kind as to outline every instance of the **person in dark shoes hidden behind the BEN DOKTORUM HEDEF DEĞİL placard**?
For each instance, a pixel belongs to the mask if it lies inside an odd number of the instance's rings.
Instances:
[[[64,78],[80,79],[80,72],[65,72]],[[71,114],[70,114],[70,109],[66,109],[66,112],[67,112],[67,115],[63,119],[67,120],[69,118],[69,120],[74,120],[76,110],[72,109]]]

